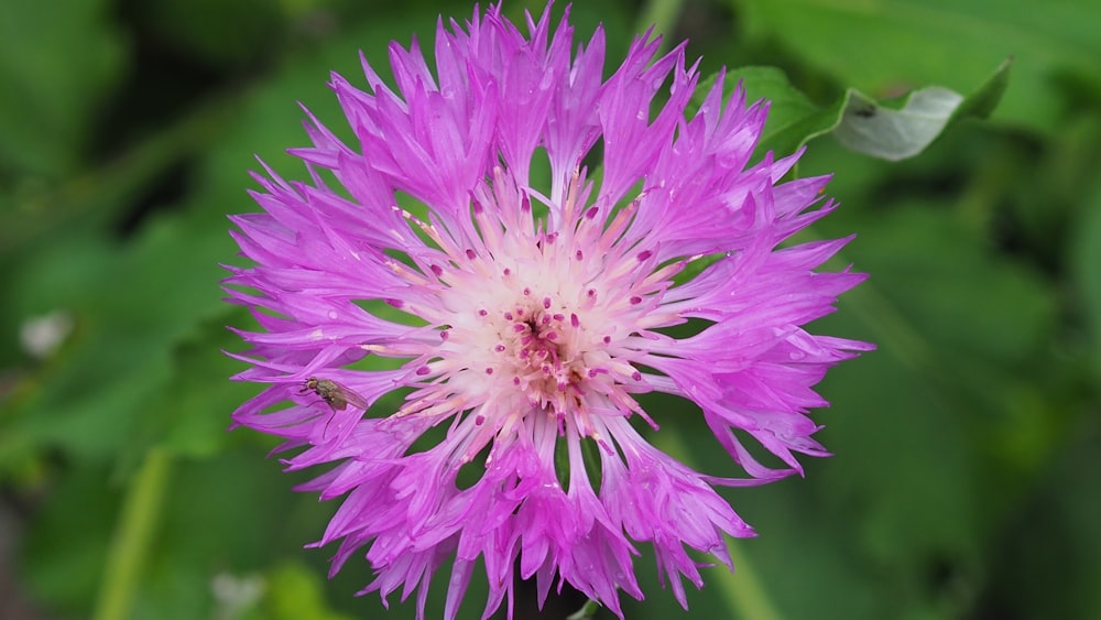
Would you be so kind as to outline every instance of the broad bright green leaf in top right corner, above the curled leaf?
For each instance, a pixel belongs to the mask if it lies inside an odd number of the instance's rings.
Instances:
[[[775,39],[800,66],[873,97],[919,84],[953,90],[1015,57],[1015,88],[996,118],[1055,130],[1065,93],[1051,77],[1098,84],[1099,2],[1028,0],[730,0],[751,39]]]

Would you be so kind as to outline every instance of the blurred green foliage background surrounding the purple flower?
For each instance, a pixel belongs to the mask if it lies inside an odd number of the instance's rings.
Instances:
[[[564,3],[559,2],[557,10]],[[395,8],[396,7],[396,8]],[[510,1],[519,19],[537,2]],[[363,85],[390,40],[432,39],[461,1],[7,0],[0,3],[0,617],[380,617],[352,561],[303,550],[335,504],[291,491],[274,445],[226,433],[257,392],[226,325],[227,214],[254,154],[292,177],[301,101]],[[887,163],[825,137],[800,174],[859,236],[836,267],[871,279],[817,331],[873,340],[820,385],[836,454],[805,479],[727,493],[761,536],[706,570],[683,612],[636,564],[628,618],[1101,618],[1101,2],[579,1],[609,57],[652,22],[702,73],[772,65],[810,101],[925,85],[973,90],[1006,57],[988,121]],[[691,463],[735,475],[706,428],[651,401]],[[464,618],[481,612],[476,585]],[[446,581],[437,579],[429,616]],[[536,617],[519,588],[516,618]],[[751,600],[752,599],[752,600]],[[563,618],[581,601],[547,605]],[[757,605],[755,611],[745,609]],[[386,617],[410,618],[391,601]],[[608,612],[600,612],[608,618]]]

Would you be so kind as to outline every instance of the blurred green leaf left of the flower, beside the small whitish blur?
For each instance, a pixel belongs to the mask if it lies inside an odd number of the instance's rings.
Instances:
[[[30,440],[122,454],[128,432],[172,377],[170,347],[221,311],[217,261],[231,254],[231,241],[224,230],[179,220],[152,224],[115,254],[81,243],[44,249],[13,278],[11,290],[30,314],[62,308],[76,322],[72,344],[28,378],[33,391],[17,417]],[[67,281],[75,285],[57,285]]]

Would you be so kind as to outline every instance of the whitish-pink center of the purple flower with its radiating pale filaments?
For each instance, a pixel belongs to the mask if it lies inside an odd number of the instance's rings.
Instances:
[[[596,432],[592,415],[644,415],[632,398],[647,388],[631,363],[631,341],[646,309],[632,284],[650,252],[621,254],[614,238],[623,222],[607,231],[595,208],[576,208],[573,192],[560,214],[566,233],[525,226],[526,198],[508,194],[514,186],[498,176],[493,198],[519,208],[476,205],[472,243],[455,244],[457,236],[416,221],[447,259],[427,263],[424,274],[435,303],[411,311],[443,329],[422,351],[419,389],[399,414],[467,411],[478,425],[492,421],[489,428],[547,415],[586,435]]]

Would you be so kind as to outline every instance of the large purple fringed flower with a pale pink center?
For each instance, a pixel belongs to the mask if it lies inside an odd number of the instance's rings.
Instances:
[[[316,544],[339,541],[333,573],[366,554],[363,592],[416,591],[423,616],[449,567],[454,618],[481,561],[487,616],[517,575],[541,603],[568,583],[622,616],[646,543],[685,606],[687,550],[730,565],[723,534],[753,535],[712,486],[826,455],[811,388],[872,347],[802,326],[864,275],[815,271],[849,239],[777,249],[835,208],[827,178],[778,183],[798,155],[749,165],[766,107],[721,76],[687,115],[683,45],[656,57],[647,33],[603,79],[601,30],[573,55],[565,18],[526,30],[493,7],[440,22],[435,70],[391,45],[396,88],[366,61],[367,91],[335,75],[355,143],[310,116],[291,151],[309,181],[257,175],[264,213],[232,218],[254,265],[226,282],[262,327],[237,379],[269,387],[233,420],[296,449],[287,469],[334,464],[301,490],[344,496]],[[751,478],[651,446],[648,392],[701,411]]]

